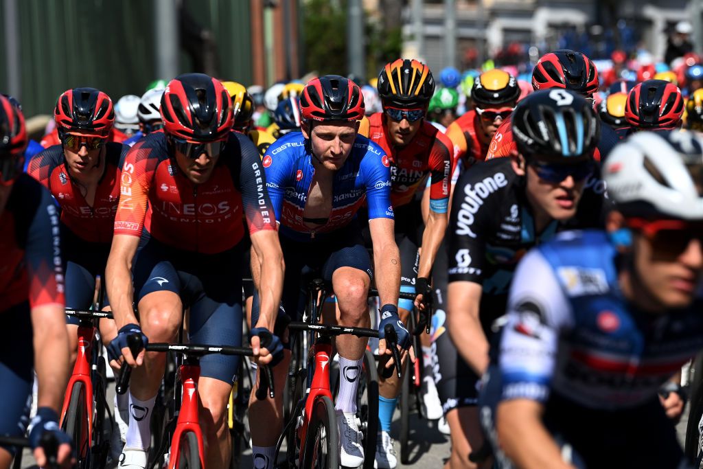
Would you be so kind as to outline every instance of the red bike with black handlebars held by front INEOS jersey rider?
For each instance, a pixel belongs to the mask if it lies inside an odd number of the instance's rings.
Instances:
[[[200,378],[200,357],[207,354],[224,354],[253,356],[254,352],[249,347],[228,347],[195,344],[167,344],[154,343],[143,347],[139,335],[129,335],[129,349],[136,356],[141,349],[148,352],[173,352],[182,359],[178,364],[174,395],[167,403],[164,437],[148,464],[149,468],[160,467],[200,469],[205,466],[205,450],[203,446],[202,430],[198,417],[198,380]],[[266,347],[266,341],[262,342]],[[265,381],[257,390],[257,399],[266,399],[266,395],[273,399],[273,375],[269,366],[264,366]],[[122,364],[117,386],[121,392],[127,390],[129,365]],[[177,417],[177,420],[176,420]]]

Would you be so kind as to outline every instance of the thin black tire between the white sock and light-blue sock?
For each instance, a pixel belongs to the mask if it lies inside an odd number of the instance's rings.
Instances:
[[[378,432],[378,370],[376,360],[369,349],[366,349],[363,354],[363,372],[364,380],[359,381],[357,401],[363,434],[363,468],[373,469]],[[366,393],[366,404],[363,399],[364,393]]]

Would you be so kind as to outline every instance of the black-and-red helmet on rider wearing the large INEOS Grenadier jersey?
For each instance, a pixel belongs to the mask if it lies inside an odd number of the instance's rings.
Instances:
[[[223,139],[234,124],[229,93],[204,73],[172,79],[161,97],[160,113],[166,134],[196,143]]]

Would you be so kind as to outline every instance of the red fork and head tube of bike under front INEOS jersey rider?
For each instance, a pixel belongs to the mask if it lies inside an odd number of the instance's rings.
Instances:
[[[205,447],[202,442],[202,430],[200,429],[200,420],[198,417],[198,380],[200,380],[200,364],[186,363],[179,367],[181,375],[181,385],[183,392],[181,394],[181,408],[179,410],[178,420],[176,421],[176,429],[171,439],[171,454],[175,454],[175,458],[169,458],[169,469],[179,467],[179,458],[181,457],[181,436],[186,432],[193,432],[198,439],[198,457],[200,458],[200,467],[205,467],[203,455]]]

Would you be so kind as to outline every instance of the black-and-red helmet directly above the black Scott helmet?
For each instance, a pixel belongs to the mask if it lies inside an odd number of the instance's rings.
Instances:
[[[532,71],[534,89],[566,88],[584,96],[598,91],[598,70],[580,52],[562,49],[547,53]]]

